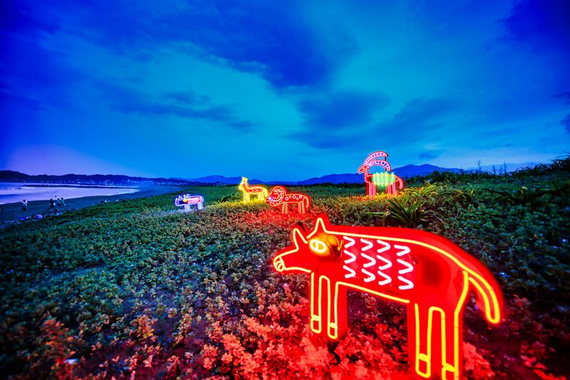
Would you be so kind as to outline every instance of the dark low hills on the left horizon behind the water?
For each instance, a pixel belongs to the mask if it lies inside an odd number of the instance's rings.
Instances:
[[[241,180],[241,178],[240,178]],[[13,170],[0,170],[0,182],[75,183],[80,185],[202,185],[203,183],[174,178],[144,178],[114,174],[28,175]]]

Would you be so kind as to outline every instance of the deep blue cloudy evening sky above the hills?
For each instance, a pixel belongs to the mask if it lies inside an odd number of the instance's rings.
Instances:
[[[0,169],[302,180],[570,151],[570,2],[0,2]]]

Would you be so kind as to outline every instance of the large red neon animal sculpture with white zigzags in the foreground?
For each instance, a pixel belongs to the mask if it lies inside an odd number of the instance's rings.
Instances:
[[[463,307],[470,290],[487,322],[501,320],[502,293],[491,272],[438,235],[330,225],[319,215],[310,232],[294,227],[292,240],[273,265],[277,272],[310,275],[311,330],[330,340],[346,336],[346,289],[405,304],[410,365],[424,378],[461,379]]]

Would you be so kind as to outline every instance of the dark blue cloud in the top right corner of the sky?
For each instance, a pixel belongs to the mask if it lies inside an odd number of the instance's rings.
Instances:
[[[517,1],[502,20],[507,39],[570,55],[570,1]]]

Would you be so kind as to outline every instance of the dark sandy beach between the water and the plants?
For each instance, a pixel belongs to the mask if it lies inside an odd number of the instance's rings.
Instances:
[[[158,185],[148,188],[139,188],[139,190],[136,192],[128,192],[123,194],[89,195],[86,197],[69,198],[66,199],[66,206],[58,207],[58,210],[61,212],[68,212],[78,210],[83,207],[100,205],[101,203],[105,202],[115,202],[118,200],[134,199],[140,197],[153,197],[155,195],[168,194],[169,192],[177,192],[181,188],[187,188],[187,186]],[[0,228],[21,222],[21,217],[30,217],[32,220],[35,220],[35,215],[43,215],[48,211],[48,208],[48,200],[28,201],[28,207],[26,211],[22,210],[21,202],[4,203],[0,205]]]

